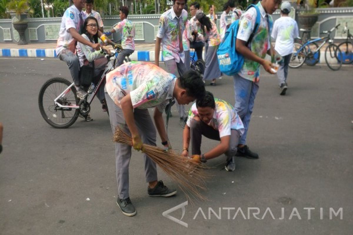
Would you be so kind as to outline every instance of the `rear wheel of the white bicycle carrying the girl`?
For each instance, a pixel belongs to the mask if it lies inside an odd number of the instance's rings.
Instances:
[[[52,78],[43,84],[39,92],[38,105],[41,115],[54,128],[68,128],[76,122],[80,113],[79,109],[61,108],[54,103],[54,100],[70,85],[71,82],[64,78]],[[57,102],[65,106],[78,105],[79,99],[74,86]]]

